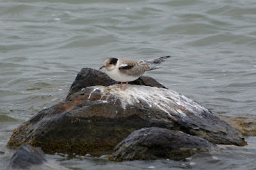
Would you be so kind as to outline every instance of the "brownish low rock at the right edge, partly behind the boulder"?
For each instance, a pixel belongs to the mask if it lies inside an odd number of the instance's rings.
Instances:
[[[243,136],[256,136],[256,118],[255,117],[237,117],[237,116],[218,116],[239,131]]]

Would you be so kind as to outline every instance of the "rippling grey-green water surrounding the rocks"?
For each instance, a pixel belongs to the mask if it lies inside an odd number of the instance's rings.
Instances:
[[[12,130],[65,99],[83,67],[108,57],[172,55],[148,72],[216,114],[256,116],[256,3],[246,1],[0,1],[0,164]],[[47,155],[71,169],[253,169],[255,138],[243,148],[185,162],[108,162]]]

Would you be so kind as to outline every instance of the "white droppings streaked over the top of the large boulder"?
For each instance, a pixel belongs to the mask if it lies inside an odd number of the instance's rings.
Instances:
[[[97,89],[100,90],[102,96],[107,96],[106,101],[108,101],[110,96],[115,102],[120,99],[124,110],[129,105],[134,106],[136,104],[141,104],[145,109],[152,110],[158,108],[167,113],[170,117],[177,115],[183,119],[188,118],[186,115],[188,112],[197,117],[202,117],[203,112],[209,113],[209,111],[200,106],[200,104],[169,89],[128,85],[126,90],[121,90],[118,88],[118,85],[111,85],[109,87],[97,86],[92,90],[90,96]]]

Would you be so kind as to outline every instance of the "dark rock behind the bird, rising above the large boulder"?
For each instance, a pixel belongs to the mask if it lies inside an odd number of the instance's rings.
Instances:
[[[109,86],[109,85],[115,85],[115,84],[118,84],[118,81],[115,81],[109,78],[108,74],[103,73],[102,71],[99,71],[96,69],[83,68],[77,74],[76,80],[71,85],[67,97],[71,96],[76,92],[79,92],[81,89],[86,87],[91,87],[95,85]],[[158,83],[156,80],[148,76],[141,76],[137,80],[129,82],[129,84],[146,85],[151,87],[163,87],[166,89],[166,87],[164,87],[163,85]]]

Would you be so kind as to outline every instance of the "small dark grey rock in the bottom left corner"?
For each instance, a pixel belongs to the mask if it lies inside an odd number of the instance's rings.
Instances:
[[[13,154],[8,169],[30,169],[47,162],[41,148],[34,148],[30,145],[22,145]]]

